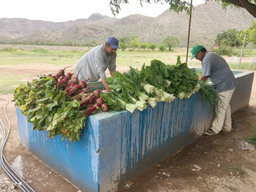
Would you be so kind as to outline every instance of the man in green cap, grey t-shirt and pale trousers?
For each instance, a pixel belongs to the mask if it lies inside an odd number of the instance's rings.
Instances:
[[[229,102],[237,85],[236,78],[222,56],[207,51],[202,45],[194,46],[191,53],[191,59],[196,58],[202,62],[202,75],[199,80],[206,81],[210,78],[212,84],[215,85],[215,89],[223,96],[220,97],[222,103],[219,101],[219,106],[221,106],[218,109],[219,111],[215,110],[216,116],[211,129],[206,130],[205,134],[214,135],[221,130],[230,132],[232,120]]]

